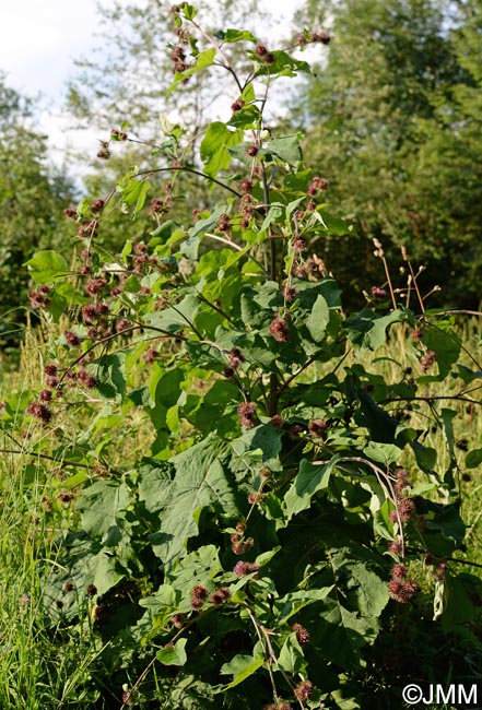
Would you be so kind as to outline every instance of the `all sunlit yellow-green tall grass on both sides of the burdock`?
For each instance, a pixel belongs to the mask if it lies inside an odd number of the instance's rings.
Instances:
[[[478,355],[480,321],[467,321],[460,332],[463,342],[461,362],[473,369],[474,360],[481,359]],[[51,329],[27,330],[20,365],[9,369],[8,363],[2,364],[0,401],[14,392],[21,395],[42,381],[43,366],[57,335]],[[341,366],[350,367],[360,362],[360,357],[349,354]],[[390,382],[407,377],[410,368],[413,372],[420,368],[403,328],[392,330],[385,348],[365,353],[363,364],[367,371],[381,375]],[[319,366],[306,372],[308,379],[324,375],[326,371]],[[473,387],[477,387],[477,380],[474,382]],[[449,448],[447,433],[445,438],[440,437],[440,429],[433,430],[434,422],[442,407],[456,412],[454,450],[462,516],[468,524],[468,551],[458,557],[482,565],[482,475],[480,468],[470,471],[465,468],[466,451],[482,446],[480,407],[458,399],[431,400],[432,397],[455,397],[460,389],[461,380],[456,378],[448,386],[447,382],[432,382],[418,392],[422,399],[411,403],[397,402],[392,406],[398,414],[403,411],[407,424],[420,431],[425,445],[437,450],[440,470],[448,465]],[[480,400],[479,391],[471,392],[470,398]],[[103,708],[103,694],[93,682],[101,649],[89,634],[89,619],[84,625],[85,634],[79,638],[46,624],[43,579],[46,569],[58,565],[56,539],[72,522],[72,513],[69,506],[50,505],[59,490],[57,466],[60,461],[35,454],[38,437],[49,436],[49,433],[36,425],[22,431],[21,416],[19,411],[19,427],[14,423],[10,433],[3,433],[0,442],[3,450],[0,453],[0,708]],[[78,429],[89,424],[75,423],[75,412],[64,410],[56,417],[56,426],[72,430],[72,426]],[[119,438],[121,435],[117,431],[113,436]],[[57,442],[54,438],[51,441],[51,452],[55,453]],[[139,446],[139,439],[132,436],[121,445],[119,441],[116,448],[127,460],[134,458],[134,449]],[[130,452],[129,447],[132,448]],[[20,453],[7,453],[8,449],[20,450]],[[471,571],[480,573],[481,570],[473,568]]]

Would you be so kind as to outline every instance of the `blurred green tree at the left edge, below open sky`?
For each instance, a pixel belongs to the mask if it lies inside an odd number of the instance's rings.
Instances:
[[[32,128],[33,104],[0,74],[0,345],[15,343],[24,321],[28,274],[37,249],[64,250],[62,211],[72,186],[49,169],[44,135]]]

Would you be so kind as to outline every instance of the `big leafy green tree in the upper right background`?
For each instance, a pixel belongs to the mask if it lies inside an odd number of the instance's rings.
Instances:
[[[383,279],[373,257],[378,238],[392,261],[403,245],[427,267],[422,283],[425,291],[444,286],[439,303],[478,304],[465,267],[480,269],[480,188],[469,177],[480,151],[468,99],[478,81],[477,40],[471,49],[465,39],[473,33],[469,14],[468,3],[455,12],[444,0],[306,4],[305,20],[328,23],[332,42],[298,115],[331,201],[357,227],[358,238],[328,240],[324,252],[352,297]]]

